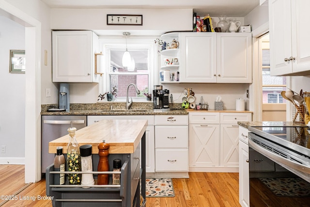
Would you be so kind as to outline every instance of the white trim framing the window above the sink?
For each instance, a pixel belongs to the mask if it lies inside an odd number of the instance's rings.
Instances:
[[[130,49],[148,49],[148,73],[133,73],[129,72],[128,74],[147,74],[149,76],[149,90],[151,93],[153,93],[153,85],[156,82],[156,71],[157,71],[157,48],[154,43],[154,40],[156,37],[152,36],[131,36],[130,38],[127,39],[127,48],[128,50]],[[110,53],[109,49],[124,49],[126,48],[126,39],[123,36],[118,36],[115,38],[115,36],[110,37],[110,36],[100,36],[99,37],[99,45],[100,45],[100,50],[104,54],[105,58],[104,59],[104,74],[102,77],[100,77],[99,84],[98,84],[98,91],[99,94],[103,94],[109,90],[109,60],[110,60]],[[125,75],[126,73],[121,73]],[[149,92],[149,93],[150,93]],[[98,95],[99,95],[98,94]],[[116,100],[113,102],[125,102],[125,97],[116,97]],[[132,97],[133,101],[136,102],[149,102],[146,101],[144,97]],[[107,100],[102,100],[98,102],[106,102]]]

